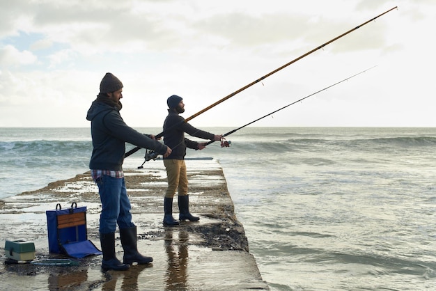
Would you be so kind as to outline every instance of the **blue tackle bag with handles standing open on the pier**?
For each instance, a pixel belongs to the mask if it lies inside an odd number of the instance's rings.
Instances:
[[[49,252],[62,253],[72,258],[84,258],[87,255],[101,255],[102,252],[88,240],[86,232],[86,206],[71,207],[62,210],[61,204],[56,209],[47,210],[47,230]]]

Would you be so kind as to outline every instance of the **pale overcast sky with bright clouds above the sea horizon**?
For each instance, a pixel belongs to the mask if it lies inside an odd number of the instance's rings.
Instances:
[[[121,115],[162,127],[166,98],[188,118],[336,36],[377,18],[192,119],[252,126],[436,126],[434,0],[0,0],[0,127],[88,127],[112,72]]]

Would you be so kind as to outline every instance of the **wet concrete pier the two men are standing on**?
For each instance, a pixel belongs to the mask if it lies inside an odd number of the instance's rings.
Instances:
[[[138,249],[153,257],[150,265],[133,265],[128,271],[103,272],[102,256],[78,260],[77,266],[20,263],[4,265],[6,240],[24,239],[36,247],[36,261],[68,258],[49,253],[46,210],[57,203],[63,209],[76,202],[86,206],[88,239],[100,249],[98,188],[89,173],[50,183],[37,191],[0,200],[0,290],[268,290],[262,280],[219,163],[187,160],[189,207],[198,222],[164,227],[163,198],[166,173],[162,161],[143,169],[126,169],[127,193],[137,225]],[[175,199],[176,202],[176,199]],[[173,216],[178,217],[177,202]],[[116,253],[123,258],[119,233]]]

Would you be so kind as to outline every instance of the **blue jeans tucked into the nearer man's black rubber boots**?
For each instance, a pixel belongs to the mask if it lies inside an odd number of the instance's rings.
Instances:
[[[124,178],[102,175],[95,182],[102,202],[100,233],[115,233],[117,223],[119,228],[133,227],[130,213],[132,206],[127,197]]]

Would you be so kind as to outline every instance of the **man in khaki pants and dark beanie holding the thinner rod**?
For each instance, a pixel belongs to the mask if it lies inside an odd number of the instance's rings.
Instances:
[[[164,198],[164,226],[176,226],[179,224],[173,218],[173,198],[178,189],[179,220],[198,221],[199,217],[189,213],[188,180],[185,165],[186,148],[203,150],[204,143],[198,143],[185,138],[185,132],[200,139],[219,141],[224,137],[218,134],[211,134],[200,129],[196,129],[180,113],[185,112],[185,104],[182,97],[171,95],[168,100],[168,116],[164,122],[164,143],[172,149],[171,155],[164,157],[166,176],[168,178],[168,188]]]

